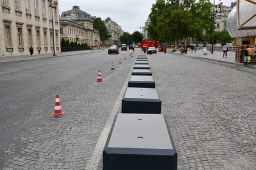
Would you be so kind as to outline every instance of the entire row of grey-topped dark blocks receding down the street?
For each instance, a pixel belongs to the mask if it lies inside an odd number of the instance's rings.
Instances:
[[[103,170],[177,169],[177,152],[148,59],[139,53],[103,151]]]

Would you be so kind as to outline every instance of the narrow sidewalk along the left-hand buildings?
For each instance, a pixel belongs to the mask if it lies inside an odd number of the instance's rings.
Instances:
[[[51,57],[57,57],[57,56],[82,55],[86,53],[95,53],[95,52],[102,52],[102,50],[95,49],[93,51],[82,50],[82,51],[74,51],[74,52],[60,52],[60,53],[55,53],[55,56],[53,55],[53,53],[37,54],[33,56],[30,56],[30,55],[5,56],[5,57],[0,57],[0,63],[8,63],[13,61],[24,61],[24,60],[35,60],[40,58],[51,58]]]

